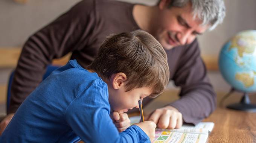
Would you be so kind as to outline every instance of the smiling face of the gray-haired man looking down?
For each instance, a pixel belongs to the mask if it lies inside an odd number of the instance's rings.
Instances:
[[[201,26],[202,21],[193,18],[191,4],[183,8],[167,8],[167,4],[161,2],[158,5],[160,14],[155,36],[165,49],[190,44],[209,27]]]

